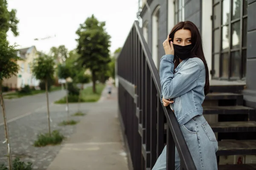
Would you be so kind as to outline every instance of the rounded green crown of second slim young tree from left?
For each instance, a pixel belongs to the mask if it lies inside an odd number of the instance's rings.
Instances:
[[[40,54],[40,56],[32,62],[32,73],[36,79],[44,81],[53,79],[54,66],[55,62],[52,57],[46,54]]]

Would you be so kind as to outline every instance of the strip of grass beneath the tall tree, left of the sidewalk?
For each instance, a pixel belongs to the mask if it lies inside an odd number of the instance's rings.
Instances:
[[[93,87],[87,87],[81,92],[81,102],[97,102],[102,94],[103,89],[105,88],[104,84],[97,84],[96,85],[96,93],[93,93]],[[68,102],[69,103],[77,103],[78,102],[78,96],[68,96]],[[66,103],[66,97],[63,97],[57,101],[55,101],[55,104],[65,104]]]

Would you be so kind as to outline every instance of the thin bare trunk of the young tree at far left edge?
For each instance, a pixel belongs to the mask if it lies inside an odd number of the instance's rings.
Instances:
[[[12,155],[11,155],[9,133],[8,133],[7,120],[6,120],[5,105],[4,105],[4,101],[3,101],[2,82],[1,81],[0,81],[0,102],[1,102],[2,109],[3,109],[3,122],[4,122],[5,136],[6,136],[6,142],[7,142],[7,151],[8,151],[8,159],[9,159],[9,170],[12,170]]]

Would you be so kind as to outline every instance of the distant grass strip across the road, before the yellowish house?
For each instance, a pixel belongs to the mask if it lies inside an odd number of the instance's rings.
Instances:
[[[51,90],[49,92],[58,91],[58,90],[61,90],[61,87],[52,86]],[[41,93],[45,93],[45,91],[44,90],[34,90],[30,94],[20,94],[19,92],[13,92],[13,93],[5,94],[5,95],[3,95],[3,97],[5,99],[14,99],[14,98],[31,96],[31,95],[35,95],[35,94],[41,94]]]

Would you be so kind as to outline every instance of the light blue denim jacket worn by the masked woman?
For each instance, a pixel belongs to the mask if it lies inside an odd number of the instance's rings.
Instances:
[[[174,55],[164,55],[160,60],[162,97],[173,99],[171,104],[179,125],[203,114],[205,66],[195,57],[185,59],[175,68]]]

